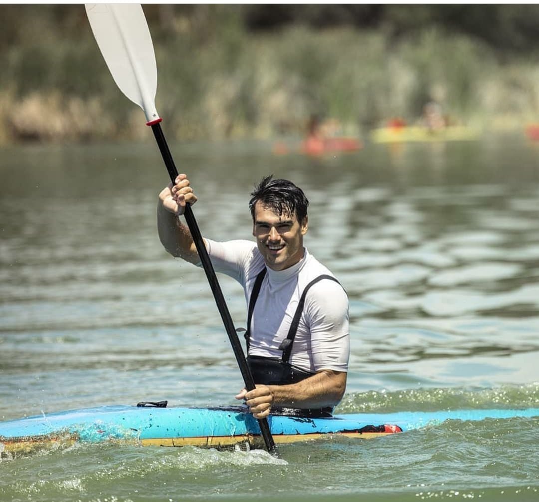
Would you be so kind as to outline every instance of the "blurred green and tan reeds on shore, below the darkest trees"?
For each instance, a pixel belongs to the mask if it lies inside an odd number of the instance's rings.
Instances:
[[[297,23],[252,32],[231,10],[201,33],[173,14],[172,28],[162,19],[154,37],[156,105],[171,139],[302,134],[312,114],[363,135],[390,117],[417,120],[431,100],[459,123],[539,120],[536,52],[500,58],[479,38],[436,25],[397,40]],[[1,46],[0,143],[146,137],[142,111],[116,88],[85,17],[77,11],[59,31],[53,17],[34,23],[24,41]]]

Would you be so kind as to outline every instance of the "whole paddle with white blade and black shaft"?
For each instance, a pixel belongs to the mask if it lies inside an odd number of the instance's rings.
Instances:
[[[95,40],[103,58],[105,58],[108,69],[123,94],[144,110],[146,124],[151,126],[163,161],[167,166],[170,180],[174,184],[178,171],[161,129],[161,117],[155,109],[157,65],[154,46],[142,6],[140,4],[86,4],[85,6]],[[245,388],[247,391],[252,391],[254,381],[251,371],[247,366],[223,292],[189,204],[185,206],[184,217],[210,283],[217,309],[223,319]],[[267,420],[260,419],[258,423],[267,451],[273,452],[275,443]]]

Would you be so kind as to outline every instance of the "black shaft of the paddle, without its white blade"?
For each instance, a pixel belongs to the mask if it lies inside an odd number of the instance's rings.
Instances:
[[[161,129],[161,124],[151,124],[151,130],[154,131],[155,140],[157,141],[157,145],[159,147],[159,150],[161,151],[165,166],[167,166],[170,181],[172,182],[172,184],[175,184],[175,180],[178,176],[178,171],[176,170],[174,159],[172,159],[172,155],[168,148],[167,140],[165,140],[163,130]],[[213,298],[215,298],[217,309],[219,310],[221,319],[223,319],[226,334],[228,335],[230,344],[232,345],[232,351],[234,352],[234,357],[236,357],[236,361],[238,363],[241,377],[243,378],[245,384],[245,388],[247,389],[247,391],[252,391],[254,389],[253,375],[251,374],[251,370],[247,366],[247,361],[245,360],[243,349],[241,348],[236,329],[234,328],[232,317],[230,316],[229,309],[226,306],[223,292],[221,291],[217,276],[215,275],[215,270],[213,270],[213,265],[211,264],[210,257],[208,256],[208,251],[204,246],[201,231],[198,228],[195,216],[189,204],[185,205],[184,217],[185,222],[189,227],[191,237],[195,242],[198,256],[202,262],[202,267],[204,268],[204,272],[206,273],[206,277],[208,278],[208,282],[210,283],[210,288],[213,293]],[[264,444],[266,445],[267,451],[273,452],[275,450],[275,442],[273,441],[273,436],[271,434],[271,430],[269,429],[267,420],[258,419],[258,424],[260,427],[260,433],[262,435],[262,438],[264,438]]]

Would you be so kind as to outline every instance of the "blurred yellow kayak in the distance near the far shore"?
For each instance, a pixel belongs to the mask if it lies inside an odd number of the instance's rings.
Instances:
[[[374,129],[370,133],[374,143],[469,141],[475,140],[480,130],[468,126],[447,126],[429,129],[424,126],[390,126]]]

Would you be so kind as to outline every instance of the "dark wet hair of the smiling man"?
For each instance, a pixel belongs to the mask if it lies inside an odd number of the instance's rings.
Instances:
[[[305,193],[287,179],[273,179],[273,176],[266,176],[255,187],[249,201],[249,210],[251,211],[253,223],[254,206],[258,201],[262,205],[271,208],[279,216],[283,214],[292,216],[295,213],[300,224],[307,218],[309,201]]]

